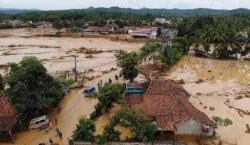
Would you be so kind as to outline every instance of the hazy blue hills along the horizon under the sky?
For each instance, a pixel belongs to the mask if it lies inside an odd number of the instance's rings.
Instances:
[[[0,13],[5,14],[18,14],[18,13],[27,13],[30,11],[39,11],[39,10],[22,10],[22,9],[0,9]],[[197,9],[131,9],[131,8],[87,8],[87,9],[76,9],[76,10],[66,10],[68,12],[72,11],[84,11],[84,12],[115,12],[115,13],[135,13],[140,15],[152,14],[152,15],[161,15],[164,17],[186,17],[186,16],[195,16],[195,15],[235,15],[242,13],[249,13],[248,9],[234,9],[234,10],[215,10],[215,9],[206,9],[206,8],[197,8]]]

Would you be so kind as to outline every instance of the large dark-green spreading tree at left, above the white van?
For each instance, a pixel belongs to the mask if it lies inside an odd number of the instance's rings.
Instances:
[[[62,86],[35,57],[25,57],[10,66],[5,91],[21,120],[48,113],[64,95]]]

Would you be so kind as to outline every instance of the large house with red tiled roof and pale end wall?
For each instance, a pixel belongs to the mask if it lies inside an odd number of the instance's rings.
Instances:
[[[161,133],[212,136],[213,122],[189,102],[189,97],[189,93],[172,80],[152,80],[143,95],[125,95],[125,100],[129,107],[152,118]]]

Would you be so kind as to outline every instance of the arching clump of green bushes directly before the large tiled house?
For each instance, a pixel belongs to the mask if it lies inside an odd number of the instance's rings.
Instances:
[[[116,125],[122,125],[131,131],[131,140],[152,141],[155,137],[157,127],[150,123],[145,114],[137,110],[123,108],[118,111],[104,128],[102,141],[117,141],[120,139],[120,132],[114,130]]]

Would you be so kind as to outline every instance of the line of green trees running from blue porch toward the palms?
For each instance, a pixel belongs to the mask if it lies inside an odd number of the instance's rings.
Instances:
[[[159,65],[170,67],[174,65],[188,51],[188,41],[185,37],[176,37],[172,44],[147,42],[140,50],[126,52],[118,51],[116,58],[118,66],[122,68],[121,74],[124,79],[133,81],[139,74],[138,65],[146,57],[153,57],[158,60]]]

